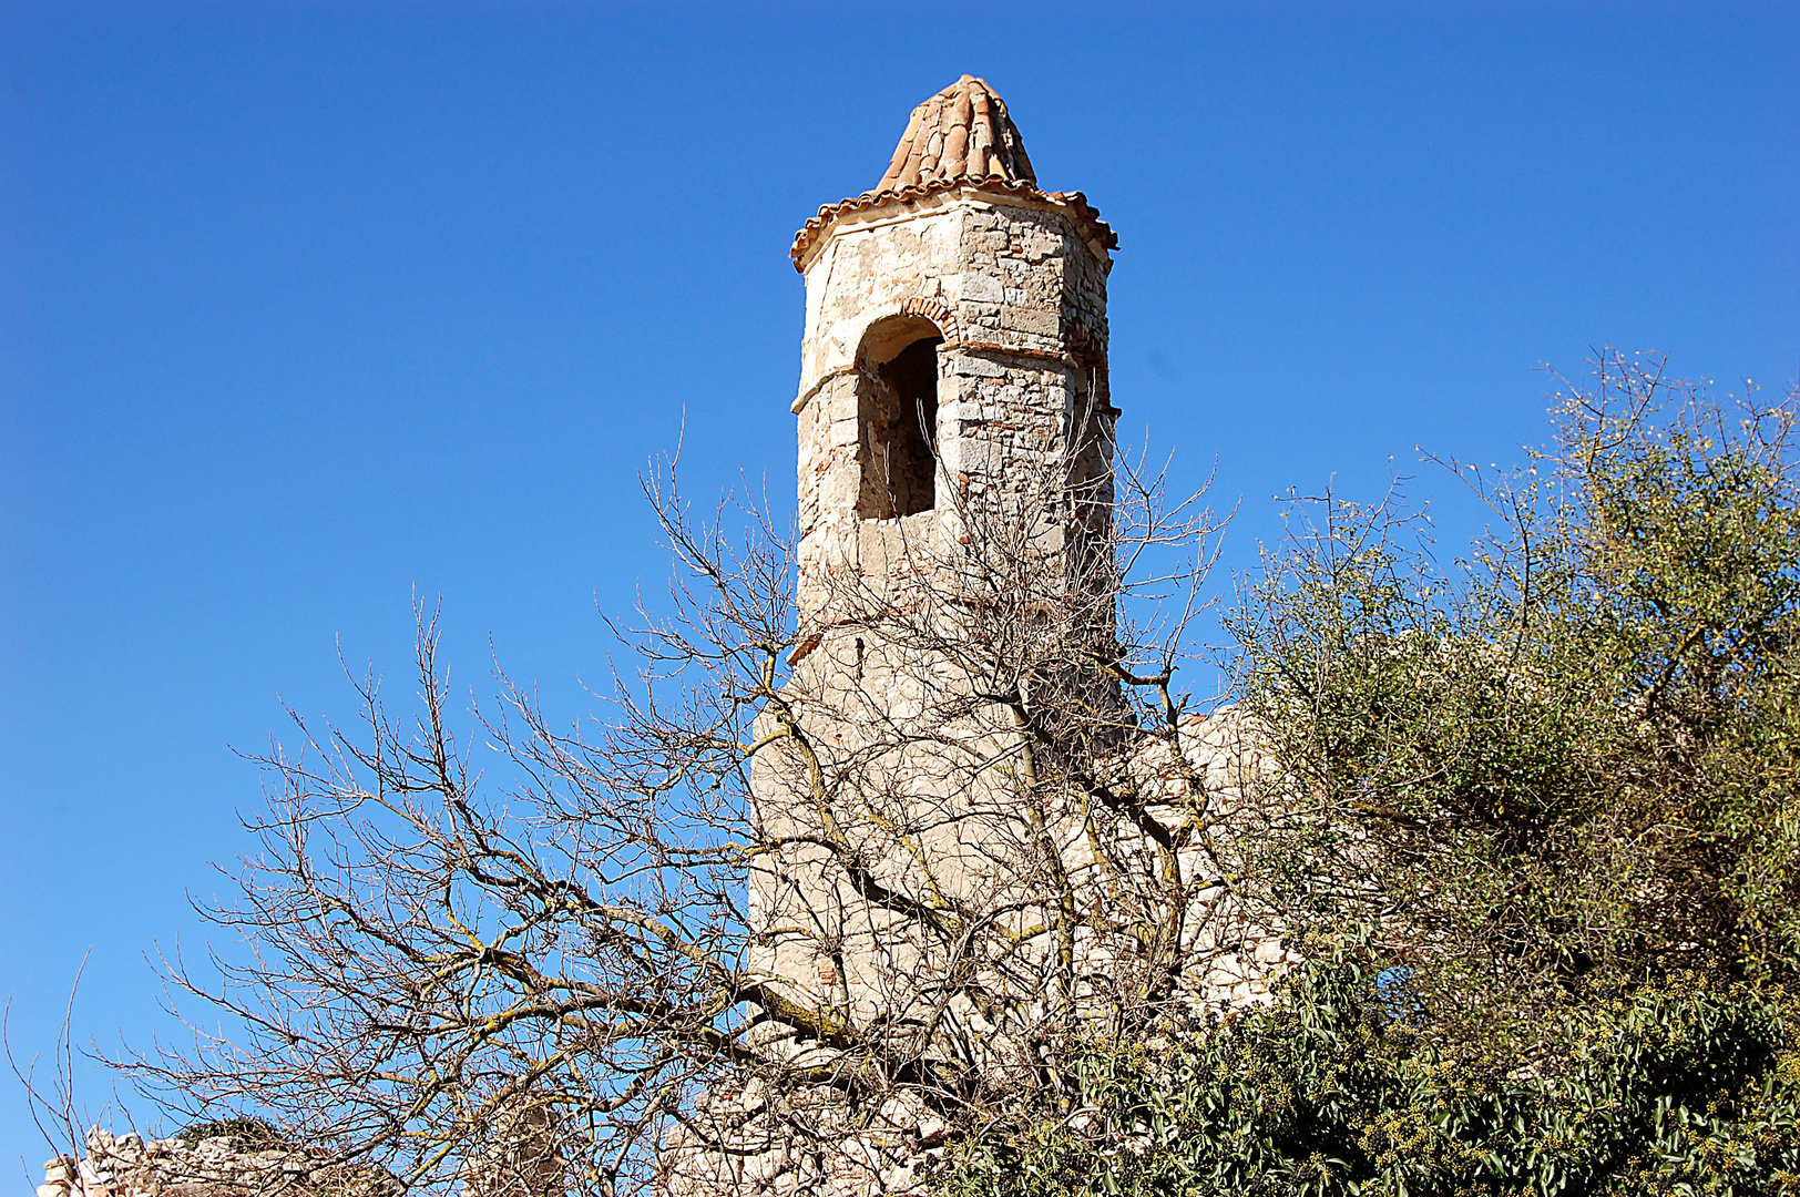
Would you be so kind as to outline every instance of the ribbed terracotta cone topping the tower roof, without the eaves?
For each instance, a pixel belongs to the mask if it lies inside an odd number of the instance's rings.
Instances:
[[[913,110],[875,191],[988,180],[1037,185],[1006,101],[986,79],[963,76]]]

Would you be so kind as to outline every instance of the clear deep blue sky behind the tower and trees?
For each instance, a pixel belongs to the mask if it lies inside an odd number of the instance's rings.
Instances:
[[[441,594],[461,680],[491,641],[574,716],[684,410],[697,495],[792,502],[788,239],[963,72],[1118,229],[1123,428],[1217,459],[1235,565],[1289,486],[1537,443],[1541,362],[1800,369],[1793,4],[0,5],[18,1049],[90,950],[77,1031],[158,1026],[142,954],[257,801],[232,749],[351,716],[338,644],[401,684]]]

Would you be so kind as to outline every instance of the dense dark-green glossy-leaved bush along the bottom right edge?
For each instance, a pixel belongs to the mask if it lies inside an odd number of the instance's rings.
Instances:
[[[947,1197],[1793,1193],[1800,1051],[1780,994],[1672,977],[1564,1015],[1550,1073],[1395,1017],[1339,950],[1228,1024],[1080,1053],[1073,1114],[963,1138]]]

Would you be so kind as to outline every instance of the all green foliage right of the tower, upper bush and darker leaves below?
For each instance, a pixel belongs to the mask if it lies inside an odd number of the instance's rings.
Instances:
[[[1444,463],[1467,556],[1327,499],[1246,589],[1231,898],[1309,963],[1084,1044],[947,1193],[1800,1192],[1795,396],[1609,356],[1555,418]]]

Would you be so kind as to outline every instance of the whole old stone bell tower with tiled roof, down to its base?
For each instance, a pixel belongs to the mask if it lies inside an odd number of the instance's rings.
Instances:
[[[972,76],[913,110],[871,191],[794,238],[797,643],[758,715],[745,963],[763,1044],[819,1093],[720,1098],[729,1150],[693,1157],[709,1177],[693,1192],[913,1192],[902,1174],[932,1134],[916,1094],[864,1103],[875,1082],[846,1080],[860,1096],[833,1105],[819,1078],[1030,1067],[1021,1028],[1046,986],[1028,976],[1075,950],[1042,931],[1046,902],[1080,866],[1062,860],[1073,832],[1021,799],[1013,707],[972,659],[1030,670],[1006,648],[1015,623],[1055,628],[1040,641],[1111,630],[1109,574],[1075,565],[1111,563],[1093,533],[1112,497],[1114,245],[1082,194],[1039,187]],[[781,1102],[810,1111],[810,1138]]]

